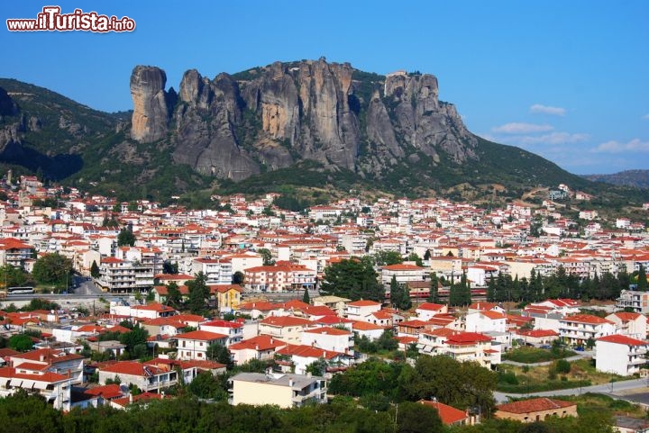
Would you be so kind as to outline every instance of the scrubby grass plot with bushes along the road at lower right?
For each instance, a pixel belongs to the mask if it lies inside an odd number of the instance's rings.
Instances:
[[[628,379],[617,374],[596,371],[590,359],[580,359],[570,365],[569,373],[557,373],[555,363],[534,367],[501,364],[498,365],[496,389],[500,392],[516,393],[544,392]]]

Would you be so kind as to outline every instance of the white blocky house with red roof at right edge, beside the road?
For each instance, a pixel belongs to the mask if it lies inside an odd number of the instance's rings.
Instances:
[[[649,343],[624,335],[608,335],[595,342],[595,368],[622,376],[639,373],[646,363],[644,356]]]

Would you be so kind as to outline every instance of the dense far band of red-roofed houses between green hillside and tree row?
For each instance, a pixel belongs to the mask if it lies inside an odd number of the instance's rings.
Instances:
[[[379,269],[383,283],[395,276],[413,285],[432,272],[447,279],[466,274],[480,287],[490,276],[522,278],[533,270],[550,275],[562,267],[585,278],[649,268],[649,236],[641,222],[620,218],[608,221],[615,229],[604,229],[597,212],[582,210],[580,221],[572,221],[550,200],[538,208],[512,202],[485,210],[443,199],[364,203],[347,198],[289,212],[273,204],[278,194],[254,201],[237,194],[213,196],[220,211],[193,211],[44,188],[32,176],[22,176],[16,185],[6,180],[0,265],[30,270],[34,250],[59,252],[82,275],[96,263],[95,282],[110,293],[149,292],[165,263],[178,266],[182,275],[202,272],[210,285],[232,284],[241,275],[246,291],[302,291],[316,287],[326,266],[381,251],[422,259],[419,266],[407,262]],[[589,203],[588,194],[571,192],[567,185],[558,191]],[[32,204],[53,198],[58,207]],[[531,236],[533,223],[540,224],[538,238]],[[133,247],[118,246],[123,227],[133,230]]]

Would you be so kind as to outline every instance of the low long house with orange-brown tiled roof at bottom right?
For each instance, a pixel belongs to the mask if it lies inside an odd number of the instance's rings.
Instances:
[[[514,419],[521,422],[543,421],[549,417],[577,416],[577,403],[545,397],[499,404],[494,414],[494,417],[499,419]]]

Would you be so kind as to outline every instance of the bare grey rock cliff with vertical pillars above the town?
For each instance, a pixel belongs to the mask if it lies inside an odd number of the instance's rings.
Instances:
[[[133,69],[131,136],[161,140],[176,162],[204,174],[241,180],[312,159],[380,176],[405,158],[478,158],[476,139],[452,104],[439,101],[432,75],[381,77],[324,59],[212,80],[189,70],[177,101],[165,82],[160,68]]]

